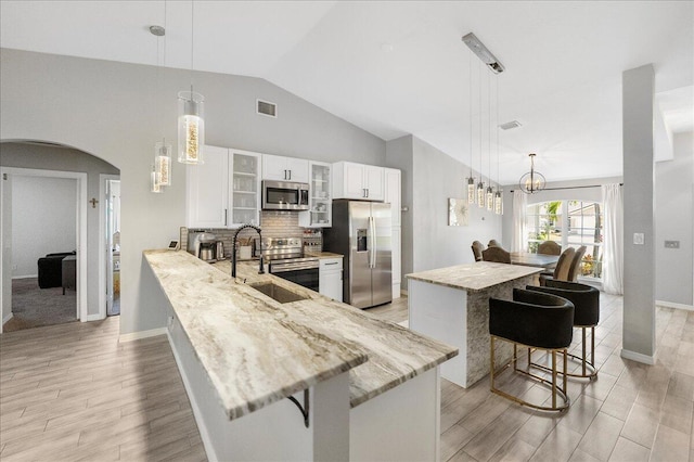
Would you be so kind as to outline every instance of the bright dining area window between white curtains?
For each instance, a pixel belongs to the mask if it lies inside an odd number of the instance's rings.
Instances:
[[[526,214],[528,252],[543,241],[578,248],[584,245],[581,275],[600,279],[603,264],[603,207],[586,201],[552,201],[529,205]]]

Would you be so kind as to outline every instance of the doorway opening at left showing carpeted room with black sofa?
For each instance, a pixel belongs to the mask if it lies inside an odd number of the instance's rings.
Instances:
[[[2,168],[0,332],[86,320],[86,174]]]

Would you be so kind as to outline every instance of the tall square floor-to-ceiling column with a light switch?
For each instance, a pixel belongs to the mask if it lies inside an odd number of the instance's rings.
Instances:
[[[625,297],[621,356],[654,363],[655,243],[653,65],[622,73]]]

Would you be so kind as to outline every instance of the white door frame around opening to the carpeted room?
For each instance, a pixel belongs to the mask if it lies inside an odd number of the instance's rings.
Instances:
[[[76,234],[77,234],[77,307],[76,317],[81,322],[88,321],[87,319],[87,174],[79,171],[64,171],[64,170],[40,170],[36,168],[17,168],[17,167],[0,167],[0,176],[22,176],[22,177],[43,177],[43,178],[66,178],[77,180],[77,196],[75,197],[75,207],[77,210]],[[0,182],[0,188],[3,190],[4,196],[5,182]],[[4,221],[4,207],[0,204],[0,222]],[[7,235],[0,230],[0,244],[3,248],[10,247],[11,242],[5,243]],[[0,261],[0,281],[5,277],[4,265]],[[9,269],[10,274],[12,269]],[[2,299],[2,291],[0,291],[0,307],[4,300]],[[0,333],[2,332],[2,323],[0,322]]]

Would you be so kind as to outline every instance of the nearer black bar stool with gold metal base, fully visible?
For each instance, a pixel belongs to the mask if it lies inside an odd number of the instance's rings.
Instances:
[[[498,298],[489,299],[489,357],[491,392],[523,406],[542,411],[564,411],[570,406],[566,393],[566,374],[563,374],[562,386],[556,384],[556,354],[564,354],[564,370],[566,370],[567,348],[574,335],[574,304],[566,298],[551,294],[542,294],[523,288],[513,290],[513,301]],[[494,343],[502,339],[513,344],[513,371],[529,376],[549,386],[552,390],[552,406],[541,406],[525,401],[517,396],[507,394],[496,386]],[[552,380],[518,369],[517,346],[541,348],[552,355]],[[557,405],[557,395],[563,403]]]

